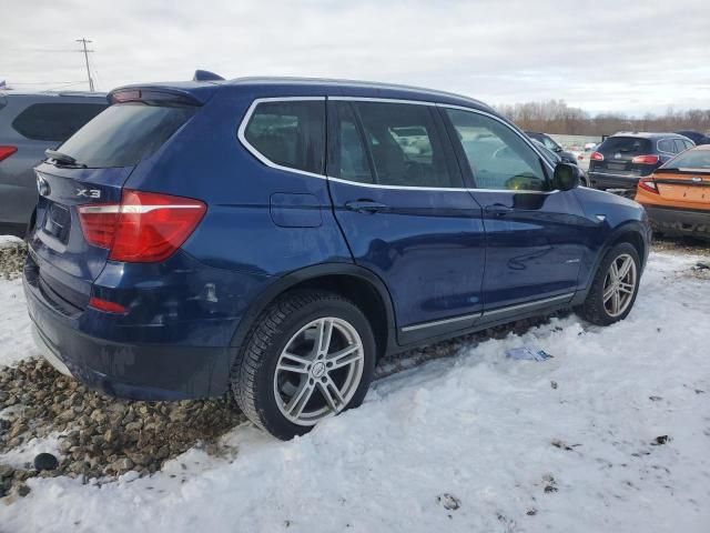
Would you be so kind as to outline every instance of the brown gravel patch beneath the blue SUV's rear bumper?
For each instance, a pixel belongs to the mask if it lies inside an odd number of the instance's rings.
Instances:
[[[0,368],[0,454],[32,439],[59,435],[53,470],[3,464],[0,492],[18,491],[33,476],[140,475],[161,469],[193,446],[219,454],[216,439],[246,419],[231,396],[180,402],[116,400],[87,389],[49,363],[29,359]],[[43,457],[39,467],[47,465]],[[3,495],[3,494],[0,494]]]

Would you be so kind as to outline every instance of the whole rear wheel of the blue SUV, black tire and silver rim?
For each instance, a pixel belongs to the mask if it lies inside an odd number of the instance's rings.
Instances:
[[[290,440],[358,406],[375,369],[375,338],[363,312],[329,292],[293,292],[256,321],[232,371],[246,416]]]

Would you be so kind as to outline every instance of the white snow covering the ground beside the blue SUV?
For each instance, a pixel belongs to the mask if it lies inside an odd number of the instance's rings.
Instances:
[[[691,275],[697,260],[653,253],[621,323],[571,315],[468,346],[378,381],[361,409],[292,442],[242,425],[222,456],[193,449],[151,477],[32,479],[0,504],[0,531],[708,532],[710,282]],[[34,353],[18,286],[0,282],[0,362]],[[554,359],[506,359],[520,345]]]

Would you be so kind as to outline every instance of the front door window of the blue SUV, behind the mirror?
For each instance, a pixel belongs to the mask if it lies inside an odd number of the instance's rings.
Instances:
[[[520,135],[485,114],[447,109],[478,189],[545,191],[538,154]]]

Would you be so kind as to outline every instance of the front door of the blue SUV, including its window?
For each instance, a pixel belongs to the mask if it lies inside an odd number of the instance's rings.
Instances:
[[[504,121],[463,109],[443,111],[484,211],[485,315],[569,301],[588,225],[575,191],[550,191],[551,169]]]

